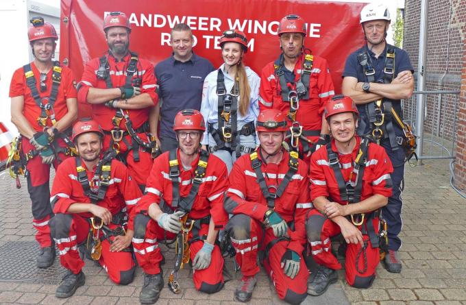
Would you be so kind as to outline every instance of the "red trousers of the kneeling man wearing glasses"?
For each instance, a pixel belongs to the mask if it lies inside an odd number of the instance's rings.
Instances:
[[[199,234],[204,235],[207,232],[208,225],[203,224],[201,230],[199,230]],[[133,237],[134,254],[136,254],[138,264],[143,268],[145,273],[160,273],[162,255],[160,254],[157,240],[163,240],[164,238],[175,239],[175,234],[170,232],[164,234],[164,230],[160,228],[157,221],[143,214],[136,215],[134,218]],[[189,240],[191,239],[193,239],[192,231],[189,234]],[[195,258],[203,245],[203,241],[191,243],[189,247],[191,260]],[[172,249],[171,251],[174,252],[175,250]],[[167,268],[167,271],[171,272],[173,266],[167,265]],[[204,270],[193,271],[193,282],[197,290],[206,293],[217,292],[223,287],[223,257],[218,245],[214,246],[209,267]],[[182,282],[180,285],[183,286]]]

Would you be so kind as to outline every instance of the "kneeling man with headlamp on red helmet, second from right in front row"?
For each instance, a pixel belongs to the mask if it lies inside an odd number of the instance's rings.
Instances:
[[[307,165],[282,142],[288,130],[286,115],[276,109],[260,112],[256,131],[260,147],[238,158],[230,173],[224,207],[233,215],[225,230],[236,249],[243,278],[234,295],[251,300],[258,251],[280,299],[299,304],[306,298],[308,269],[303,258],[304,226],[309,201]]]

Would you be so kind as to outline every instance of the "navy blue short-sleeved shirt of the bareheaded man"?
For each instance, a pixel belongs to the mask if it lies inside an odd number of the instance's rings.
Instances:
[[[172,55],[156,65],[158,96],[162,98],[160,137],[175,138],[172,128],[177,112],[201,108],[204,78],[212,71],[214,66],[195,53],[186,62]]]

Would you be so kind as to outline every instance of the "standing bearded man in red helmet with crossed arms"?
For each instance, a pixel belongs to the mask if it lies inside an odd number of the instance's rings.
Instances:
[[[106,136],[103,151],[117,151],[140,189],[156,154],[156,77],[154,66],[130,51],[131,26],[122,12],[103,20],[108,53],[90,60],[77,85],[81,103],[93,106],[93,119]]]

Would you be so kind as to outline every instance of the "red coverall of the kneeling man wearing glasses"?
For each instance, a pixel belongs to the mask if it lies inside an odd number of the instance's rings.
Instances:
[[[179,164],[180,149],[177,149],[177,158]],[[185,170],[180,166],[180,197],[186,197],[193,186],[192,179],[195,177],[195,169],[199,157],[191,164],[191,169]],[[171,210],[173,199],[173,188],[171,178],[169,177],[169,151],[160,155],[154,160],[149,179],[147,179],[147,194],[140,199],[136,206],[136,216],[134,219],[135,234],[133,238],[134,254],[138,264],[147,274],[160,273],[160,261],[162,255],[158,247],[157,239],[164,239],[164,230],[160,228],[157,221],[148,217],[147,211],[153,203],[160,204],[162,198]],[[228,221],[228,215],[223,210],[223,193],[228,187],[228,171],[225,163],[217,156],[210,154],[208,158],[208,166],[203,182],[199,186],[197,196],[189,219],[203,219],[212,217],[215,223],[216,230],[221,230]],[[196,221],[193,230],[189,233],[189,241],[197,236],[206,236],[208,232],[209,222]],[[165,233],[167,239],[174,239],[175,234],[170,232]],[[199,240],[191,243],[189,246],[191,260],[193,260],[204,245],[204,242]],[[223,287],[223,257],[221,256],[220,248],[214,245],[212,251],[212,260],[206,269],[195,270],[193,272],[193,281],[195,287],[199,291],[206,293],[215,293]]]

